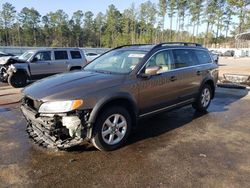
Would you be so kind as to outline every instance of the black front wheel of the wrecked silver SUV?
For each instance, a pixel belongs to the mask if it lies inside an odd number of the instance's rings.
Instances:
[[[8,83],[14,88],[24,87],[27,85],[27,76],[22,72],[12,73],[8,77]]]

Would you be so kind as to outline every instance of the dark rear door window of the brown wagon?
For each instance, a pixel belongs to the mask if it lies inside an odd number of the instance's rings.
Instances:
[[[177,49],[173,50],[175,68],[190,67],[196,65],[196,58],[193,50]]]

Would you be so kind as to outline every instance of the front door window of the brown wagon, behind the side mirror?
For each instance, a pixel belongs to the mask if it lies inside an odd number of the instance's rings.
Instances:
[[[160,68],[157,74],[168,72],[174,68],[171,63],[170,53],[168,50],[161,51],[153,55],[147,62],[146,68],[155,66]]]

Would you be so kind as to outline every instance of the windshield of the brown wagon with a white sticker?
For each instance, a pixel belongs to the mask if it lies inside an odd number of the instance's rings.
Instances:
[[[92,61],[84,70],[128,74],[146,53],[139,50],[113,50]]]

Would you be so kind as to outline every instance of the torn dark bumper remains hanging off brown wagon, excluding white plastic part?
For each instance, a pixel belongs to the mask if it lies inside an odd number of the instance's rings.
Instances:
[[[40,117],[24,105],[21,111],[27,120],[27,132],[37,144],[46,148],[67,149],[83,142],[79,130],[76,135],[72,135],[72,131],[69,134],[70,130],[62,124],[62,117]],[[78,128],[83,130],[81,124]]]

